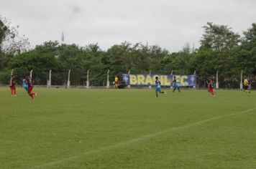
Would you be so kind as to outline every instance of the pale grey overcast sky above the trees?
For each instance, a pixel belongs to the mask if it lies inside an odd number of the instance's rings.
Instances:
[[[32,46],[45,41],[198,47],[207,21],[242,34],[256,22],[256,0],[0,0],[0,15],[19,25]]]

